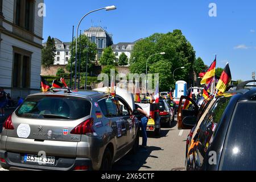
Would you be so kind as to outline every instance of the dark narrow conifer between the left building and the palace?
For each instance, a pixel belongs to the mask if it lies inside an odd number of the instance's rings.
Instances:
[[[42,65],[44,68],[49,68],[55,60],[55,40],[48,36],[46,47],[42,49]]]

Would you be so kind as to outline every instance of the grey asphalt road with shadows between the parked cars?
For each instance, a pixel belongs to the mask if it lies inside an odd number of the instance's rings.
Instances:
[[[182,135],[180,135],[182,133]],[[185,141],[189,131],[163,128],[161,137],[148,134],[148,152],[126,155],[114,164],[114,171],[181,171],[185,163]],[[140,138],[142,142],[142,138]],[[3,169],[0,168],[0,171]]]

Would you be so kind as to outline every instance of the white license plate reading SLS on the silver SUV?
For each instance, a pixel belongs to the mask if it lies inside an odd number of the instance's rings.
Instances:
[[[55,164],[55,157],[49,156],[38,156],[38,155],[24,155],[24,162],[25,163],[36,163],[42,165],[54,165]]]

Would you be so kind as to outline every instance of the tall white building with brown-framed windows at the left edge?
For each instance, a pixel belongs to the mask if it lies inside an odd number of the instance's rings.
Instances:
[[[0,87],[13,98],[39,92],[43,0],[0,0]]]

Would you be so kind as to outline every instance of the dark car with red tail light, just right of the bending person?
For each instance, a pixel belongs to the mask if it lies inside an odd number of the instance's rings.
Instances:
[[[159,99],[159,116],[162,124],[168,127],[172,126],[172,122],[174,122],[174,108],[164,98]]]

